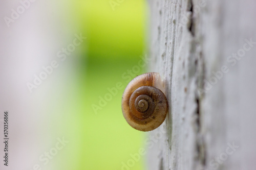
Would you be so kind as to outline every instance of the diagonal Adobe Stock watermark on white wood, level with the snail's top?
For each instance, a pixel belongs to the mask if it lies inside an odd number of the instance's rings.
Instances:
[[[203,89],[199,88],[198,92],[199,94],[207,93],[215,84],[217,84],[225,74],[229,72],[230,66],[235,66],[238,61],[240,61],[245,55],[246,52],[250,51],[252,47],[256,44],[256,41],[252,41],[252,38],[245,39],[245,43],[243,44],[243,47],[240,48],[236,53],[232,53],[229,55],[226,59],[227,63],[230,65],[223,65],[220,70],[212,71],[212,76],[206,80],[203,80],[204,86]]]

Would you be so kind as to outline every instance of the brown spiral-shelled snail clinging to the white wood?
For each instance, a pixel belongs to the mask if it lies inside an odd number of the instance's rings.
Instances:
[[[134,78],[122,95],[122,112],[127,123],[140,131],[159,127],[168,113],[168,101],[157,72]]]

